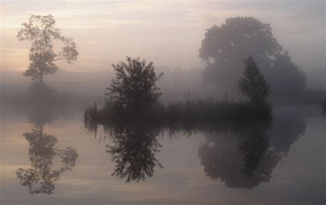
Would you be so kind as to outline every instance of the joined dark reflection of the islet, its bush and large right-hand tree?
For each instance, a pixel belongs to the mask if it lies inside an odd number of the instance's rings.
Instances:
[[[85,126],[97,132],[98,125]],[[230,188],[254,188],[270,181],[277,164],[305,133],[305,121],[287,112],[270,122],[173,127],[138,122],[138,125],[105,125],[104,130],[113,142],[107,145],[107,153],[115,164],[112,175],[121,180],[139,182],[152,177],[156,165],[162,167],[155,158],[161,147],[157,139],[160,133],[178,138],[181,133],[195,138],[201,132],[205,140],[199,145],[198,155],[206,175]]]

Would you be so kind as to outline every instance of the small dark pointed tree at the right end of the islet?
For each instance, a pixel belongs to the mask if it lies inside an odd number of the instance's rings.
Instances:
[[[266,100],[271,93],[270,85],[261,74],[252,56],[248,56],[243,63],[246,65],[244,77],[239,80],[238,85],[241,93],[249,98],[252,105],[266,105]]]

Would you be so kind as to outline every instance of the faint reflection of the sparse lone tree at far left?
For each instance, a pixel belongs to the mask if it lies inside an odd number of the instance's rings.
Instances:
[[[31,167],[19,168],[17,177],[22,186],[28,186],[32,194],[47,193],[54,191],[54,182],[67,171],[72,171],[78,154],[73,147],[56,149],[58,139],[55,136],[44,133],[47,123],[54,120],[50,109],[34,109],[30,111],[29,122],[32,123],[31,131],[23,133],[23,137],[30,144],[29,155]],[[55,159],[60,160],[59,166],[54,166]]]

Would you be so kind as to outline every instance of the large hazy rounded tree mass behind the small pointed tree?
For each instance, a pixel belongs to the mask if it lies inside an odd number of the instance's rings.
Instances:
[[[236,91],[233,82],[241,77],[241,62],[249,55],[257,61],[275,93],[303,89],[305,75],[282,50],[269,23],[254,17],[233,17],[206,31],[199,58],[206,63],[205,80],[222,89]],[[288,80],[281,76],[292,77]]]

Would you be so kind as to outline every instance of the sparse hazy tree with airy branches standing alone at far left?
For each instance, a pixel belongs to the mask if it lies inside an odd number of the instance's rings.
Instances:
[[[32,76],[33,80],[43,83],[43,76],[54,74],[58,67],[55,61],[76,61],[78,52],[76,43],[70,37],[63,36],[61,30],[55,28],[56,21],[52,15],[32,15],[28,23],[22,23],[17,34],[19,41],[30,41],[30,65],[24,76]],[[54,52],[54,43],[63,44],[58,53]]]

